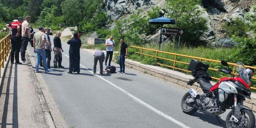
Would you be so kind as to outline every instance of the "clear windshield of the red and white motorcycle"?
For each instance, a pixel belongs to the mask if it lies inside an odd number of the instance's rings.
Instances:
[[[239,77],[242,78],[247,85],[250,85],[250,78],[248,73],[246,72],[244,64],[242,62],[237,62],[235,68],[239,74]]]

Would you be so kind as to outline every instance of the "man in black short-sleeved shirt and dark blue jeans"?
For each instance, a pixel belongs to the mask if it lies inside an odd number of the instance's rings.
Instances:
[[[124,65],[124,61],[125,58],[127,57],[127,53],[128,53],[128,45],[124,42],[124,39],[121,38],[120,39],[121,44],[121,50],[120,50],[120,54],[119,54],[119,65],[120,65],[120,71],[118,71],[120,74],[125,74],[125,65]]]

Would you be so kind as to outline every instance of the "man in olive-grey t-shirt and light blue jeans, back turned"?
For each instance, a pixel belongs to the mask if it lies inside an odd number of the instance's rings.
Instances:
[[[34,39],[33,39],[33,45],[34,45],[34,53],[36,53],[36,70],[35,72],[39,72],[39,61],[42,57],[43,59],[43,66],[45,69],[45,73],[50,72],[47,68],[47,63],[46,63],[46,53],[45,53],[45,33],[44,33],[44,28],[40,26],[39,31],[34,34]]]

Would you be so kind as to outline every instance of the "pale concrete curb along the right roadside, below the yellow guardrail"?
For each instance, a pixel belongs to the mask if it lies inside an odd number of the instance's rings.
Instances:
[[[89,53],[89,54],[93,54],[85,49],[82,49],[83,51]],[[112,58],[113,61],[116,62],[115,58]],[[155,70],[146,66],[143,66],[144,64],[138,64],[138,63],[134,63],[129,59],[125,59],[125,66],[130,68],[130,69],[134,69],[140,72],[143,72],[145,74],[149,74],[151,76],[155,76],[157,78],[169,81],[171,83],[175,83],[177,85],[183,86],[187,89],[195,89],[198,90],[199,92],[203,92],[202,89],[200,88],[198,83],[194,83],[194,85],[190,86],[187,85],[187,82],[189,81],[188,78],[182,78],[176,74],[171,74],[171,73],[166,73],[166,72],[162,72],[160,70]],[[192,76],[191,76],[192,78]],[[216,82],[211,81],[211,83],[214,85]],[[250,99],[246,99],[246,101],[244,101],[244,105],[251,108],[251,110],[253,112],[256,112],[256,97],[255,97],[255,93],[252,92],[251,94],[251,100]]]

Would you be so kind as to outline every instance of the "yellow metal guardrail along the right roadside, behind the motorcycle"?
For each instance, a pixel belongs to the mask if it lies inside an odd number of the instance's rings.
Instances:
[[[131,46],[131,48],[138,48],[138,49],[140,49],[140,52],[135,52],[135,53],[140,54],[140,56],[145,55],[145,56],[155,57],[155,59],[158,58],[158,59],[164,59],[164,60],[173,61],[173,66],[164,65],[164,64],[161,64],[161,63],[157,63],[158,65],[162,65],[162,66],[165,66],[165,67],[169,67],[169,68],[172,68],[173,70],[177,69],[177,70],[182,70],[182,71],[190,72],[190,73],[191,73],[191,71],[189,71],[189,70],[180,69],[180,68],[175,67],[176,63],[183,63],[183,64],[186,64],[186,65],[189,65],[189,63],[182,62],[182,61],[177,61],[177,60],[176,60],[177,56],[186,57],[186,58],[192,58],[192,59],[198,59],[200,62],[202,62],[203,60],[204,60],[204,61],[210,61],[210,62],[216,62],[216,63],[220,63],[220,62],[221,62],[221,61],[213,60],[213,59],[206,59],[206,58],[200,58],[200,57],[195,57],[195,56],[187,56],[187,55],[182,55],[182,54],[176,54],[176,53],[171,53],[171,52],[164,52],[164,51],[153,50],[153,49],[142,48],[142,47],[136,47],[136,46]],[[156,54],[155,54],[155,56],[149,55],[149,54],[145,54],[145,53],[142,53],[143,50],[153,51],[153,52],[156,52]],[[164,54],[174,55],[174,60],[173,60],[173,59],[167,59],[167,58],[159,57],[159,56],[157,56],[158,53],[164,53]],[[228,64],[234,66],[234,68],[233,68],[233,74],[238,75],[238,74],[235,73],[235,63],[228,63]],[[247,65],[245,65],[245,67],[251,68],[251,69],[256,69],[256,67],[247,66]],[[219,72],[218,69],[213,69],[213,68],[210,68],[210,67],[209,67],[208,69],[209,69],[209,70],[214,70],[214,71],[218,71],[218,72]],[[219,78],[216,78],[216,77],[211,77],[211,78],[212,78],[212,79],[215,79],[215,80],[220,80]],[[255,77],[253,77],[252,79],[256,80]],[[251,89],[256,90],[255,87],[251,87]]]

